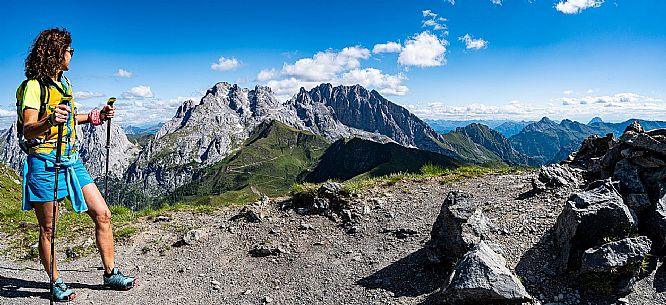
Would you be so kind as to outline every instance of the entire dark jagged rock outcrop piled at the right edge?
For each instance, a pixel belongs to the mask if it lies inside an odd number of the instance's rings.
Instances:
[[[581,274],[604,291],[624,293],[648,252],[665,254],[664,134],[634,122],[618,139],[589,137],[560,165],[584,170],[588,181],[569,197],[555,224],[558,273]]]

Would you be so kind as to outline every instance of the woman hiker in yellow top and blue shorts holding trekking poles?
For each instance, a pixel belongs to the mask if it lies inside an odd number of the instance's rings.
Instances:
[[[74,55],[70,33],[61,28],[42,31],[35,39],[25,60],[27,80],[17,90],[18,123],[22,123],[22,148],[28,156],[23,167],[23,210],[35,209],[39,222],[39,258],[51,276],[51,234],[55,183],[55,149],[58,125],[62,132],[61,168],[58,173],[58,200],[69,197],[77,213],[86,212],[95,223],[97,248],[104,265],[104,286],[127,290],[136,280],[123,275],[114,265],[111,212],[88,171],[79,160],[76,124],[101,125],[114,116],[115,107],[93,109],[88,114],[77,114],[74,102],[60,105],[63,97],[70,98],[72,86],[63,75],[69,70]],[[21,125],[17,130],[21,133]],[[21,139],[21,135],[19,135]],[[55,260],[55,254],[54,254]],[[70,301],[76,296],[53,272],[53,297],[57,301]]]

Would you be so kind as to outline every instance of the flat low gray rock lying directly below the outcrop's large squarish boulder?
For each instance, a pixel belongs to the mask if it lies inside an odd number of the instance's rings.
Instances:
[[[588,249],[583,254],[580,272],[610,273],[621,267],[636,265],[650,252],[651,246],[652,241],[647,236],[639,236]]]

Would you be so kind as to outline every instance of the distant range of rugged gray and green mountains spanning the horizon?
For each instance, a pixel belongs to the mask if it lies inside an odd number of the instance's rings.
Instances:
[[[128,126],[127,136],[112,125],[109,201],[139,208],[226,191],[278,195],[295,182],[415,172],[426,164],[540,166],[566,158],[591,134],[619,134],[628,124],[488,122],[496,129],[472,123],[438,133],[358,85],[321,84],[280,102],[269,87],[218,83],[200,101],[185,101],[157,131]],[[0,135],[0,160],[20,171],[14,128]],[[80,134],[82,160],[101,178],[104,129],[86,125]]]

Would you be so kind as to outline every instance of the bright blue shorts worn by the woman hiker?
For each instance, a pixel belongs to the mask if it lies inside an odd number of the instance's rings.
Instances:
[[[47,166],[46,161],[28,155],[27,191],[31,202],[53,201],[53,188],[55,186],[55,167]],[[76,160],[72,165],[76,178],[79,179],[81,188],[95,182],[88,171],[83,167],[81,160]],[[58,170],[58,200],[69,194],[65,175],[67,170],[61,167]]]

